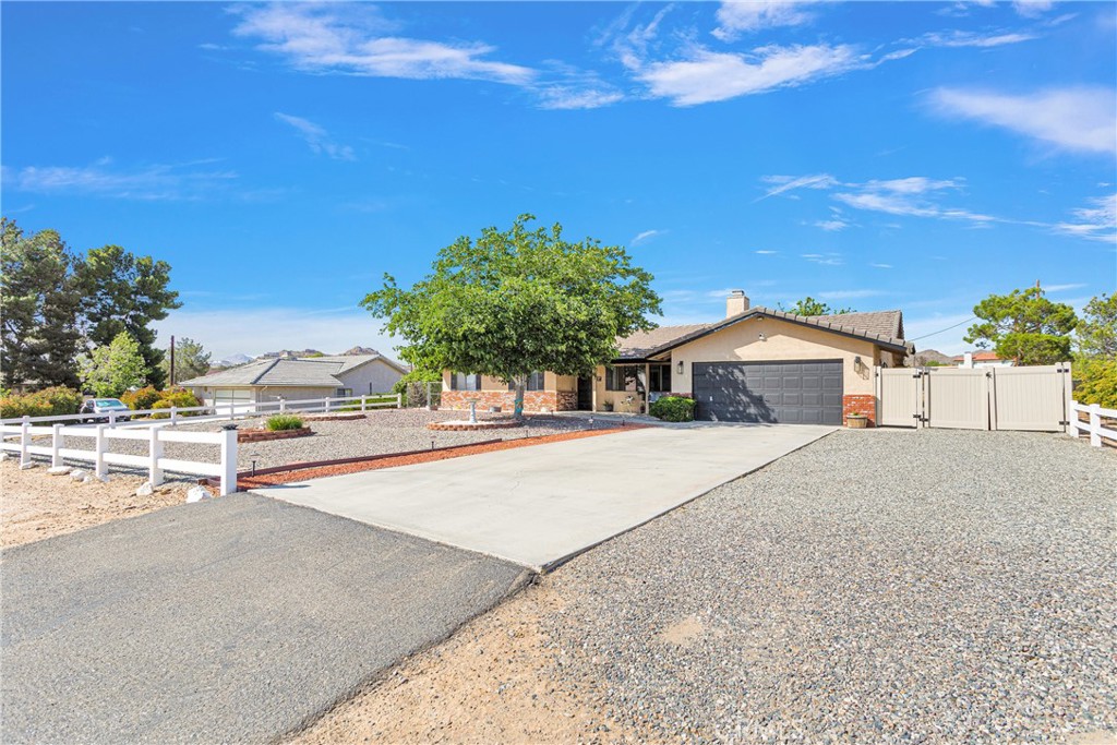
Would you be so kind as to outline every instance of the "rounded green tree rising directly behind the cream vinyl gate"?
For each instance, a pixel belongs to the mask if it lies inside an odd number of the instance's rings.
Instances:
[[[974,306],[981,322],[966,329],[965,342],[992,346],[1002,360],[1018,365],[1047,365],[1070,359],[1075,309],[1043,297],[1040,287],[990,295]]]

